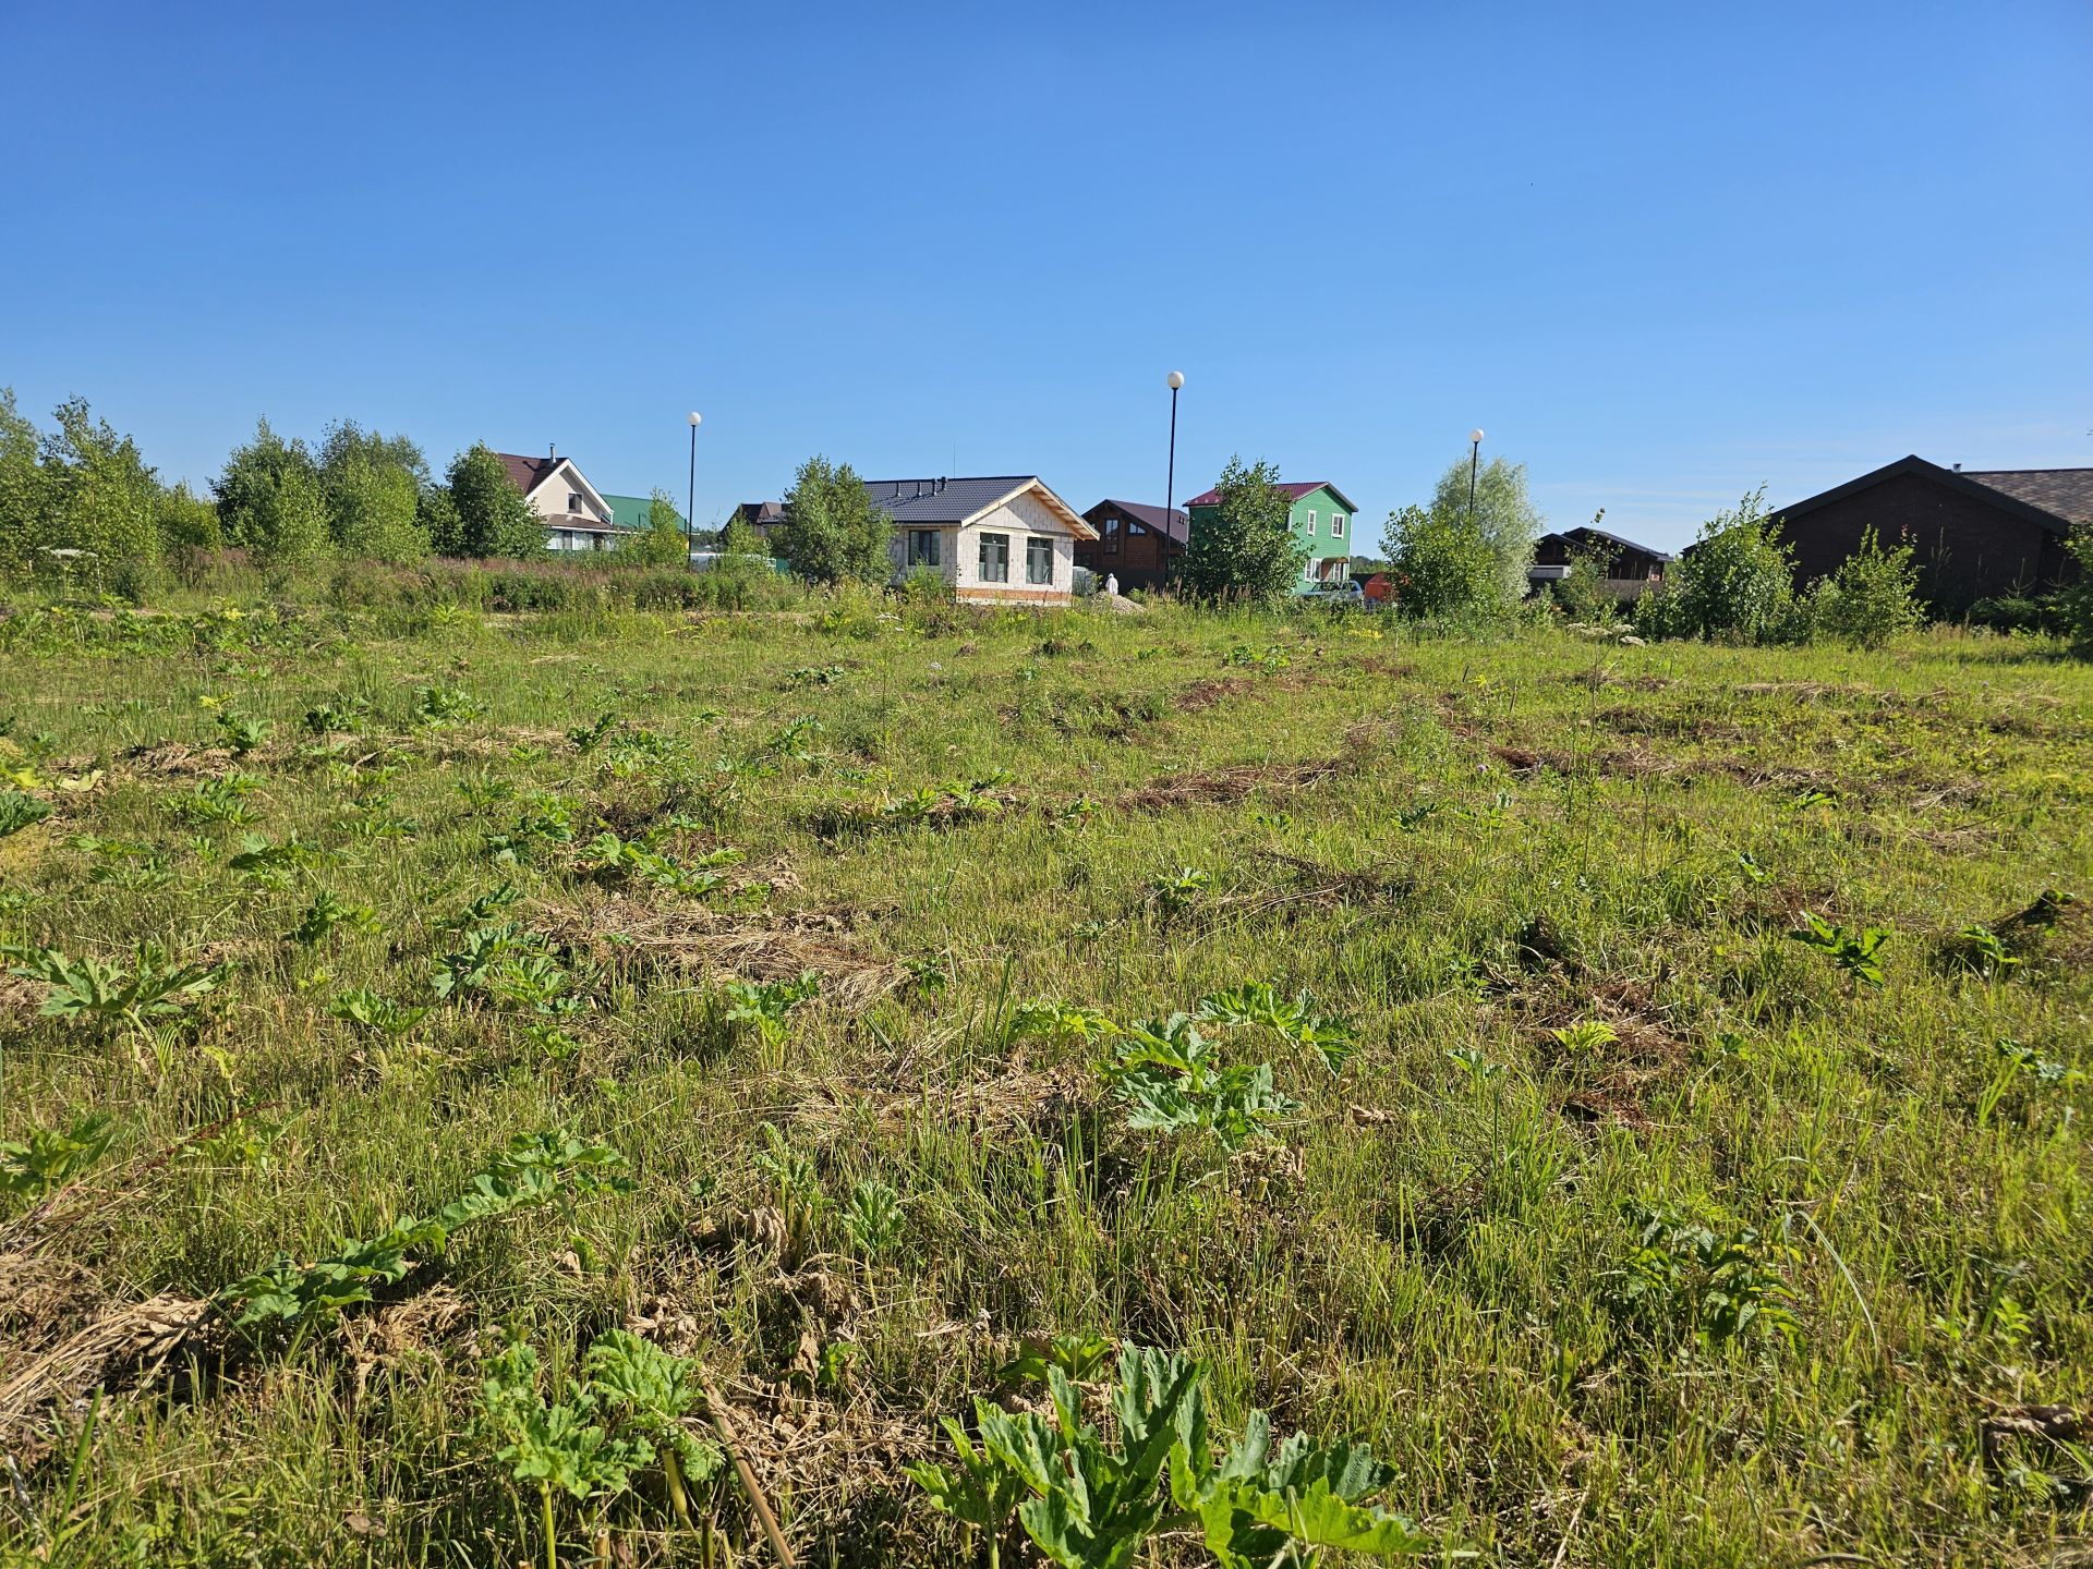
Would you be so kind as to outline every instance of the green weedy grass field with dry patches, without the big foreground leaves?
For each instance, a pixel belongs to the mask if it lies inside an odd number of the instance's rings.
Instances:
[[[2093,1563],[2041,644],[816,600],[0,665],[8,1565],[544,1563],[483,1368],[617,1326],[814,1565],[986,1563],[904,1466],[1055,1335],[1371,1446],[1423,1561]],[[550,1500],[561,1563],[768,1563],[728,1471],[691,1513]]]

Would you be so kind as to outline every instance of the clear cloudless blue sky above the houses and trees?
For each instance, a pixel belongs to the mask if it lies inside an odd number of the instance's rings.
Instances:
[[[1679,544],[2093,464],[2093,4],[0,6],[0,383],[697,517],[810,452],[1369,519],[1471,425]]]

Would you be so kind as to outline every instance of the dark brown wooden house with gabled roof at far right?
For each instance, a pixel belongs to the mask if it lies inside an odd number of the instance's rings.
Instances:
[[[1959,613],[2074,575],[2066,542],[2093,525],[2093,469],[1963,473],[1911,456],[1775,517],[1794,546],[1798,588],[1838,571],[1873,529],[1886,548],[1911,544],[1919,592],[1936,611]]]

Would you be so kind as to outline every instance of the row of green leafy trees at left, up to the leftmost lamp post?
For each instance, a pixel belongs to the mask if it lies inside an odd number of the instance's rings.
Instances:
[[[333,559],[534,559],[546,538],[486,441],[437,475],[404,435],[343,418],[308,444],[264,418],[199,496],[186,481],[161,483],[138,444],[86,400],[59,404],[38,431],[13,389],[0,389],[0,575],[23,582],[88,563],[103,588],[138,598],[167,569],[224,548],[283,575]],[[617,554],[678,565],[687,548],[674,502],[655,492],[649,527],[622,538]]]

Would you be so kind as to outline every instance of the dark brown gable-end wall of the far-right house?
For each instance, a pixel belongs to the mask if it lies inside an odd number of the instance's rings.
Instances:
[[[1913,546],[1919,592],[1942,613],[1967,611],[1974,600],[2016,588],[2057,584],[2068,571],[2062,536],[1980,496],[1907,473],[1781,523],[1781,538],[1796,552],[1796,586],[1836,573],[1869,529],[1884,548]]]

